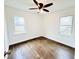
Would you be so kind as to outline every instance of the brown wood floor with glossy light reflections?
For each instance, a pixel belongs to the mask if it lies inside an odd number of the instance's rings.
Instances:
[[[40,37],[10,47],[8,59],[74,59],[74,49]]]

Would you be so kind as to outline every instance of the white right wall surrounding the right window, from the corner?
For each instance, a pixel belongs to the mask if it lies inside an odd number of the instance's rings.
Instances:
[[[45,37],[48,37],[52,40],[58,41],[60,43],[75,47],[74,40],[74,26],[73,33],[71,36],[64,36],[59,34],[59,18],[61,16],[74,16],[75,14],[74,7],[70,7],[61,11],[54,12],[52,14],[46,14],[44,19],[45,26]]]

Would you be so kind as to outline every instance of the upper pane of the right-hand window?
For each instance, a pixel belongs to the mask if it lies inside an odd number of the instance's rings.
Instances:
[[[72,25],[73,16],[60,18],[60,25]]]

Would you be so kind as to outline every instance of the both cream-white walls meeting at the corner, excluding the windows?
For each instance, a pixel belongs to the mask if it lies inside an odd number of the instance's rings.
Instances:
[[[25,41],[38,36],[45,36],[52,40],[74,47],[74,30],[71,36],[61,36],[59,34],[59,17],[69,15],[74,15],[74,7],[54,13],[37,14],[34,12],[24,12],[13,7],[5,6],[5,18],[8,26],[9,44]],[[21,35],[13,34],[13,16],[24,17],[26,33]]]

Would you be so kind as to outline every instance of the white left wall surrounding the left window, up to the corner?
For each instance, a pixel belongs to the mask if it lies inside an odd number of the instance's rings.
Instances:
[[[13,34],[14,16],[24,17],[26,33],[19,35]],[[40,20],[40,15],[38,15],[37,13],[23,12],[22,10],[5,6],[5,18],[8,27],[7,30],[8,30],[9,44],[14,44],[17,42],[21,42],[42,35],[42,29],[40,28],[42,27],[42,22]]]

